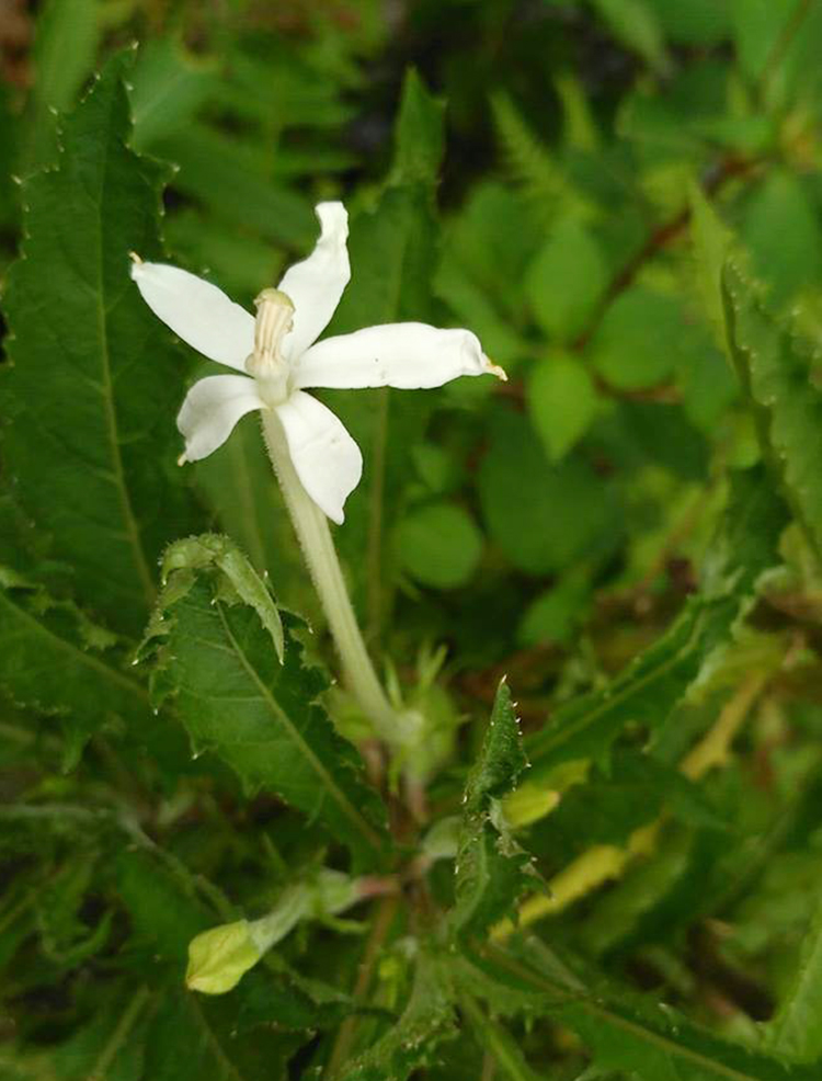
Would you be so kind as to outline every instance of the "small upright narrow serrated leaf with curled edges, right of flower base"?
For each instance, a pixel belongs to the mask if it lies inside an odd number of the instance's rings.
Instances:
[[[463,796],[463,823],[455,865],[454,932],[481,934],[507,915],[520,894],[534,885],[527,855],[502,822],[499,800],[513,792],[528,765],[507,683],[496,690],[479,759]]]

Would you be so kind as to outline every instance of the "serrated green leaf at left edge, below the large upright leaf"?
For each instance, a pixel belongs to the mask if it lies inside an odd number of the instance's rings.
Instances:
[[[136,730],[150,717],[148,692],[124,671],[116,639],[68,601],[0,568],[0,686],[15,702],[59,717],[65,765],[109,721]]]

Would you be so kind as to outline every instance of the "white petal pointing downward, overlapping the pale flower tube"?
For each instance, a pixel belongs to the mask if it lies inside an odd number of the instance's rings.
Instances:
[[[332,522],[342,524],[343,504],[363,475],[359,447],[330,409],[301,390],[277,406],[277,417],[302,487]]]

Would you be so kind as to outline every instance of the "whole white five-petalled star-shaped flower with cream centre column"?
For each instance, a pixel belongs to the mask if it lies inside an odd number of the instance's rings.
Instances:
[[[368,327],[315,344],[351,277],[349,216],[342,203],[320,203],[320,238],[308,259],[286,271],[276,289],[256,298],[256,319],[225,293],[187,271],[134,258],[132,277],[144,300],[184,342],[242,375],[201,379],[178,417],[183,460],[221,446],[254,409],[273,409],[294,468],[311,499],[334,522],[363,471],[359,447],[312,387],[439,387],[460,375],[504,372],[468,330],[421,322]]]

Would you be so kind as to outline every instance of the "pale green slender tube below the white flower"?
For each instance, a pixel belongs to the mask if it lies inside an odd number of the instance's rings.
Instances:
[[[391,707],[365,648],[336,558],[328,519],[308,496],[297,476],[283,425],[274,410],[263,412],[263,434],[308,572],[319,594],[342,661],[345,682],[377,736],[389,744],[397,744],[401,741],[401,718]]]

